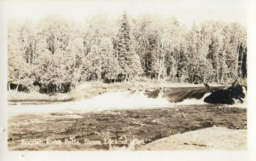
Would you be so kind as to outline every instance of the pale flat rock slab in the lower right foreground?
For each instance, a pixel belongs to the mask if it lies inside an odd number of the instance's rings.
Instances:
[[[137,150],[246,150],[247,129],[212,127],[171,135]]]

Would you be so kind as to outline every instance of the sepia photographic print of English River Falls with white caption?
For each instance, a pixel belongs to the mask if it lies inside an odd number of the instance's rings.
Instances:
[[[9,151],[247,150],[247,1],[13,3]]]

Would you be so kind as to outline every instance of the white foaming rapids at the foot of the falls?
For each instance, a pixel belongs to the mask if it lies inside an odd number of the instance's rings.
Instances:
[[[204,95],[200,100],[186,99],[181,102],[173,103],[162,97],[162,93],[157,98],[148,98],[143,92],[115,92],[97,95],[90,99],[84,99],[73,102],[61,102],[48,105],[11,105],[9,106],[9,115],[24,114],[24,113],[50,113],[50,112],[95,112],[102,110],[113,109],[150,109],[163,108],[174,106],[189,106],[207,104],[203,100],[207,95]],[[246,99],[245,99],[246,100]],[[246,107],[244,103],[237,102],[236,107]]]

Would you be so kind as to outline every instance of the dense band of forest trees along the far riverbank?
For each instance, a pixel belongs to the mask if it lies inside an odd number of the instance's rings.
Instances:
[[[8,55],[8,89],[47,94],[85,81],[231,83],[247,78],[247,30],[214,20],[188,28],[150,14],[82,22],[50,15],[9,20]]]

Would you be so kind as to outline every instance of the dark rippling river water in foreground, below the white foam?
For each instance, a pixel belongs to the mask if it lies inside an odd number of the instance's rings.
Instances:
[[[108,144],[84,145],[84,141],[143,140],[160,138],[212,126],[247,129],[247,109],[201,105],[142,110],[106,110],[102,112],[48,115],[22,114],[9,117],[9,150],[108,150]],[[65,142],[75,139],[75,145],[22,145],[22,141],[47,138]],[[113,144],[114,145],[114,144]],[[127,147],[128,144],[116,144]]]

